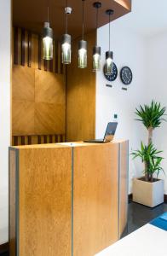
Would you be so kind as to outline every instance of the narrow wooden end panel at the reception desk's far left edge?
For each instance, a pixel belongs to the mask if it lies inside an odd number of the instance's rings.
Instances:
[[[9,150],[9,253],[15,256],[16,252],[16,226],[15,226],[15,179],[16,179],[16,154]]]

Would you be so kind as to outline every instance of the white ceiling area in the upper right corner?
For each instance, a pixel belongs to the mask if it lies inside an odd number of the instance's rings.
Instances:
[[[133,11],[117,20],[124,29],[151,37],[167,32],[167,0],[132,0]]]

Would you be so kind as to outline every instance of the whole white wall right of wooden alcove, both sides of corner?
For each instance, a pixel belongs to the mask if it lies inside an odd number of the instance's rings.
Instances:
[[[150,103],[152,99],[167,107],[167,32],[151,38],[137,30],[126,28],[126,22],[133,22],[133,14],[126,15],[112,22],[112,50],[114,62],[118,67],[118,79],[110,83],[103,73],[96,79],[96,137],[102,137],[107,122],[118,113],[118,131],[116,138],[130,140],[132,149],[140,147],[141,140],[147,142],[147,130],[135,121],[135,108],[139,104]],[[105,52],[108,49],[108,26],[102,26],[97,32],[98,44],[101,45],[102,66],[105,63]],[[121,90],[123,84],[119,78],[120,69],[129,66],[133,72],[133,81],[128,90]],[[112,84],[112,88],[106,87]],[[154,131],[153,141],[158,149],[164,150],[164,171],[167,170],[167,123]],[[143,171],[140,160],[132,160],[130,156],[130,186],[132,177],[139,177]],[[164,193],[167,194],[166,177]]]

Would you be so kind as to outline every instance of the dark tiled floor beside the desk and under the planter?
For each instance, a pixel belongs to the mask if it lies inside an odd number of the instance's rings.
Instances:
[[[158,215],[163,212],[167,212],[167,204],[162,204],[158,207],[149,208],[130,202],[129,204],[129,214],[128,214],[128,225],[126,230],[124,230],[124,236],[130,234],[131,232],[139,229],[144,224],[147,224],[153,218],[158,217]],[[2,253],[0,256],[9,256],[8,253]]]

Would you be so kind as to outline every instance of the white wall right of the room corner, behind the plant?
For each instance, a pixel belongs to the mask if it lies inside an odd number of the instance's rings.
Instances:
[[[147,38],[147,89],[148,97],[162,103],[167,108],[167,31]],[[163,150],[164,193],[167,194],[167,122],[153,133],[153,142]]]

